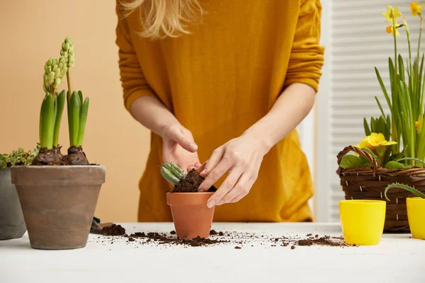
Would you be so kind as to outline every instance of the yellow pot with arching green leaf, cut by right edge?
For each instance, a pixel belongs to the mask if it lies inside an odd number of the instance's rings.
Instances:
[[[385,198],[388,201],[390,199],[387,197],[387,192],[393,188],[406,190],[416,196],[407,197],[406,199],[407,218],[409,220],[410,231],[412,231],[412,237],[425,240],[425,194],[408,185],[391,184],[385,188]]]

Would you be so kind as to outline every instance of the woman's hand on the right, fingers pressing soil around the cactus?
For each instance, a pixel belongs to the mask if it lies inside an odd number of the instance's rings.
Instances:
[[[227,172],[229,175],[210,197],[207,206],[238,202],[245,197],[259,175],[261,162],[268,150],[265,142],[247,134],[215,149],[210,159],[198,168],[205,178],[198,191],[206,192],[222,175]]]

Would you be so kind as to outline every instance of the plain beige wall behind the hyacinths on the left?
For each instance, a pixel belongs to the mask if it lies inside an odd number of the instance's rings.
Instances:
[[[149,132],[123,106],[115,24],[113,0],[1,1],[0,152],[35,146],[43,66],[49,57],[59,57],[64,37],[72,37],[73,86],[91,100],[84,150],[89,161],[105,165],[107,171],[96,216],[136,221],[137,183],[149,151]],[[60,134],[64,148],[69,146],[66,119],[65,111]]]

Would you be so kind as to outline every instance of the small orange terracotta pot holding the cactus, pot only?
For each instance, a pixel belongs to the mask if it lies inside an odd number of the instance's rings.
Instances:
[[[179,238],[210,236],[215,207],[207,201],[214,192],[167,192],[166,203],[171,207],[174,227]]]

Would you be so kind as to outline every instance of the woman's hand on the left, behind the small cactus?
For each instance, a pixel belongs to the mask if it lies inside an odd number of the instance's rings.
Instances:
[[[199,167],[198,146],[193,141],[191,131],[182,125],[164,127],[162,131],[164,142],[162,160],[176,163],[183,171]]]

